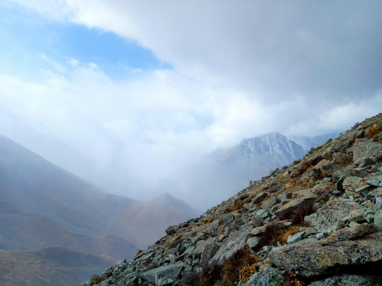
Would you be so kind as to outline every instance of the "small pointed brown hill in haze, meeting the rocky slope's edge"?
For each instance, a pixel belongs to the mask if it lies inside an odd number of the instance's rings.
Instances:
[[[134,233],[141,244],[148,246],[166,235],[168,225],[185,222],[199,215],[198,210],[165,193],[151,201],[134,203],[127,212],[120,214],[118,220],[124,228]]]

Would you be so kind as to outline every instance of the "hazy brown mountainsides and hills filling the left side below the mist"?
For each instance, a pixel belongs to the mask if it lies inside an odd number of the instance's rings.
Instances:
[[[79,284],[154,243],[165,235],[164,226],[198,215],[170,194],[146,202],[106,194],[0,136],[1,285]],[[18,272],[22,253],[34,264],[44,262],[32,276]],[[73,267],[76,255],[91,260],[87,267]],[[61,276],[71,279],[58,281]]]

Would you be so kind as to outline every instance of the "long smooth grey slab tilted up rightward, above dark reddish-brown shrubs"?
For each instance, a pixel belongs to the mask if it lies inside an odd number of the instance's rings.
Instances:
[[[239,231],[230,235],[228,239],[225,240],[224,244],[216,252],[214,257],[209,261],[209,264],[212,262],[217,262],[217,264],[222,264],[225,259],[230,258],[233,253],[240,249],[244,249],[245,244],[249,238],[248,234],[252,230],[252,225],[243,225]]]

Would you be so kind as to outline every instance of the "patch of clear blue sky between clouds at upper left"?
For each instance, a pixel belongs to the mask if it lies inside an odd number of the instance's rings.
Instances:
[[[0,68],[10,75],[29,79],[41,76],[36,72],[40,67],[49,68],[41,55],[67,69],[73,68],[70,58],[79,63],[95,63],[114,80],[134,79],[141,72],[172,68],[135,40],[85,25],[47,21],[16,5],[0,9],[0,35],[3,39]]]

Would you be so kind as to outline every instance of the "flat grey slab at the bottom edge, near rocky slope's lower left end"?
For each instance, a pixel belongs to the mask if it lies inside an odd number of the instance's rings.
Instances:
[[[138,276],[151,284],[162,286],[175,283],[183,267],[183,263],[170,264],[142,272]]]

